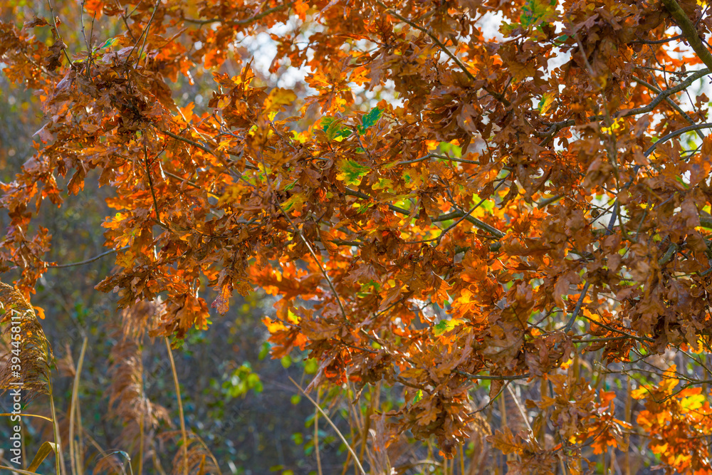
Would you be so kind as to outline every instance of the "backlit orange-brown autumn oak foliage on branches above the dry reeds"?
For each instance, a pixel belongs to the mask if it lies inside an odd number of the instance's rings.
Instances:
[[[0,184],[0,271],[25,296],[57,264],[33,217],[95,179],[115,251],[96,288],[123,307],[160,296],[135,323],[152,336],[263,289],[273,357],[307,351],[311,388],[402,388],[383,444],[408,431],[445,456],[475,401],[540,385],[534,426],[488,437],[538,474],[627,444],[615,393],[580,375],[598,352],[652,372],[636,434],[661,464],[712,473],[706,2],[1,4],[4,74],[46,117]],[[276,48],[263,70],[244,46],[258,36]],[[206,107],[172,92],[206,77]]]

